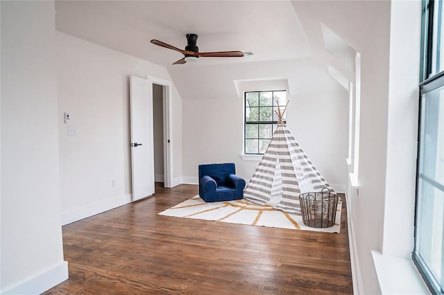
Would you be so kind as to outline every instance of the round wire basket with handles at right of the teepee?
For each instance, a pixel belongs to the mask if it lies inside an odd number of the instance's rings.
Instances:
[[[338,195],[328,188],[321,192],[302,193],[299,195],[302,222],[310,227],[325,228],[334,225]]]

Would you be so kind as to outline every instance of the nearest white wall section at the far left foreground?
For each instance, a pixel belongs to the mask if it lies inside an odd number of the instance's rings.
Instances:
[[[1,1],[1,293],[67,279],[53,1]]]

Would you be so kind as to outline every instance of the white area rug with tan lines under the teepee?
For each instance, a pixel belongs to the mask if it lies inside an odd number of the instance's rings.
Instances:
[[[197,195],[162,211],[159,215],[260,225],[280,229],[339,233],[341,230],[341,208],[342,202],[341,199],[339,199],[334,225],[323,229],[306,226],[304,222],[302,222],[302,215],[280,211],[268,205],[254,204],[247,202],[245,199],[205,203],[203,199],[200,199]]]

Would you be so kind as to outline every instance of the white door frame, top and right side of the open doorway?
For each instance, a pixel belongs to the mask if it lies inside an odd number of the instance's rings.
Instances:
[[[171,188],[171,175],[173,175],[173,143],[171,142],[171,134],[173,134],[173,123],[171,109],[173,105],[172,86],[171,80],[165,80],[162,78],[146,75],[146,80],[152,84],[161,85],[164,87],[162,91],[162,106],[163,106],[163,131],[164,131],[164,187]],[[151,91],[151,96],[153,95]]]

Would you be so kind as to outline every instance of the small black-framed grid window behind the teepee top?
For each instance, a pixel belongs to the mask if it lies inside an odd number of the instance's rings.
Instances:
[[[278,105],[287,103],[287,92],[249,91],[245,92],[244,111],[244,153],[264,154],[278,124]],[[287,123],[286,115],[282,118]]]

